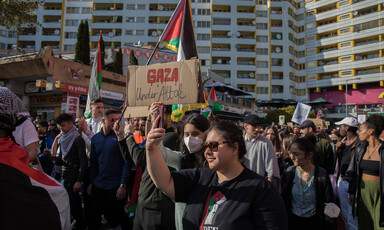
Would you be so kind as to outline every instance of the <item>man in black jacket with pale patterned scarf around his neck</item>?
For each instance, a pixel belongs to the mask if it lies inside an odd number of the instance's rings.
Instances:
[[[88,164],[85,142],[74,125],[72,115],[63,113],[56,122],[61,130],[57,156],[62,162],[62,182],[69,195],[71,215],[76,221],[75,229],[84,229],[80,191]]]

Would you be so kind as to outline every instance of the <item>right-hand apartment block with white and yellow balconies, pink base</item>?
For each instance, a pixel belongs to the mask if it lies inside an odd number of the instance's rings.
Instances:
[[[383,3],[307,0],[307,93],[332,102],[328,117],[382,112]]]

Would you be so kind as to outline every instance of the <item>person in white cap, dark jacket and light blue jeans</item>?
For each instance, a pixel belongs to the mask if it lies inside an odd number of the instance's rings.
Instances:
[[[338,175],[337,193],[340,200],[341,213],[347,230],[357,230],[357,218],[352,216],[352,206],[349,205],[349,183],[351,178],[346,174],[351,159],[355,155],[356,146],[360,144],[357,138],[357,129],[359,122],[356,118],[346,117],[336,122],[340,126],[339,133],[343,136],[343,140],[336,143],[336,170]],[[337,135],[335,135],[337,137]],[[332,137],[331,137],[332,138]]]

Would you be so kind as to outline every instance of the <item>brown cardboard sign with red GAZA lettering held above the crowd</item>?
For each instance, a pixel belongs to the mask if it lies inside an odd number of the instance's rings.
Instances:
[[[127,106],[204,102],[199,60],[128,66]]]

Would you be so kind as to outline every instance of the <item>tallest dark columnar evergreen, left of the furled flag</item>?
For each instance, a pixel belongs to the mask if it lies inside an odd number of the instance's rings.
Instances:
[[[81,21],[77,31],[77,42],[75,51],[75,60],[80,61],[85,65],[89,65],[89,28],[88,21]]]

